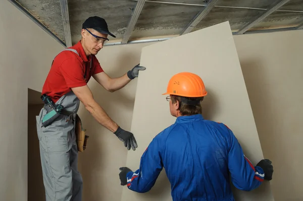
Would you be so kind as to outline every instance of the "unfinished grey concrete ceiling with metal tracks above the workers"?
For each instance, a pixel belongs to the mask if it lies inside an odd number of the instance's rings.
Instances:
[[[70,0],[67,32],[61,13],[62,2],[67,0],[9,1],[18,2],[64,43],[66,34],[70,34],[72,44],[81,38],[82,23],[90,16],[107,21],[109,30],[117,36],[109,36],[109,44],[120,43],[123,38],[126,42],[169,38],[224,21],[229,21],[234,34],[295,29],[303,23],[303,0]],[[199,19],[190,24],[197,14],[201,14]],[[258,18],[261,20],[256,22]]]

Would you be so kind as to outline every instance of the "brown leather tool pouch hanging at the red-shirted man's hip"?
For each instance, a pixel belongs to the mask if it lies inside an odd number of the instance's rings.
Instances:
[[[86,129],[83,129],[82,122],[78,114],[76,115],[76,141],[79,152],[83,152],[86,149],[87,140],[89,136],[86,136]]]

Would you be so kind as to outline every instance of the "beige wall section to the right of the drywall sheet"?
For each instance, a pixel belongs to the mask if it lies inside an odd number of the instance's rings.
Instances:
[[[303,200],[303,31],[234,37],[276,201]]]

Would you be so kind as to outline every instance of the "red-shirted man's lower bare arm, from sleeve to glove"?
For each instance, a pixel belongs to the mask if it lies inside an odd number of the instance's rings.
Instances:
[[[115,132],[118,129],[118,124],[114,122],[105,110],[93,99],[93,95],[87,85],[72,88],[72,91],[101,125],[112,132]]]

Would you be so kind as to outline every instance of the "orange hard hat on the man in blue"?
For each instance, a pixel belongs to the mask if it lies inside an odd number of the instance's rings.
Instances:
[[[170,94],[184,97],[203,97],[207,95],[202,79],[193,73],[183,72],[174,75],[167,86],[167,92]]]

